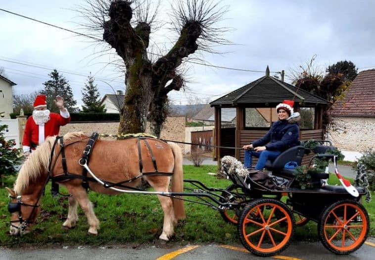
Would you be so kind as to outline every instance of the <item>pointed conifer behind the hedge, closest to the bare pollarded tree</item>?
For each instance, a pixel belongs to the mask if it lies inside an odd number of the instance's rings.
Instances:
[[[94,77],[91,75],[85,83],[85,87],[82,89],[82,110],[84,112],[102,113],[105,112],[104,105],[100,105],[99,90],[97,85],[94,85]]]

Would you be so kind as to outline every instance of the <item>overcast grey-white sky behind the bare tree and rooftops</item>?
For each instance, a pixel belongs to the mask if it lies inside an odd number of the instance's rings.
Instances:
[[[166,9],[169,2],[162,0]],[[84,32],[78,30],[76,23],[81,21],[78,14],[70,10],[75,4],[84,1],[0,0],[2,9]],[[373,0],[223,0],[222,5],[228,5],[229,11],[221,26],[235,29],[224,35],[234,45],[216,48],[226,54],[200,53],[209,64],[259,71],[265,71],[269,65],[271,71],[285,70],[287,76],[290,69],[316,54],[322,70],[344,59],[353,61],[360,70],[375,68]],[[160,16],[166,14],[167,11],[160,11]],[[81,89],[90,72],[97,78],[101,96],[113,94],[112,88],[125,90],[123,73],[116,66],[105,65],[118,56],[113,51],[102,56],[95,54],[108,49],[108,45],[94,46],[73,33],[3,11],[0,11],[0,35],[0,67],[7,78],[17,83],[16,94],[42,90],[42,83],[48,80],[47,74],[53,68],[64,71],[62,75],[69,81],[79,104],[82,104]],[[174,37],[163,31],[155,33],[153,41],[164,44]],[[188,68],[188,89],[172,93],[175,104],[198,99],[201,103],[212,101],[264,75],[264,72],[197,64],[189,64]]]

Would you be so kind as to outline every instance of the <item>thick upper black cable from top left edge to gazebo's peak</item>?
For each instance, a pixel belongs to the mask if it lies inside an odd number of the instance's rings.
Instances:
[[[90,36],[90,35],[86,35],[86,34],[83,34],[83,33],[75,32],[75,31],[72,31],[72,30],[69,30],[69,29],[57,26],[57,25],[53,25],[53,24],[50,24],[50,23],[47,23],[47,22],[43,22],[41,20],[38,20],[38,19],[35,19],[35,18],[31,18],[31,17],[25,16],[25,15],[22,15],[22,14],[18,14],[18,13],[15,13],[15,12],[11,12],[11,11],[8,11],[8,10],[2,9],[2,8],[0,8],[0,11],[7,12],[7,13],[10,13],[10,14],[13,14],[13,15],[25,18],[25,19],[29,19],[29,20],[32,20],[34,22],[38,22],[38,23],[42,23],[42,24],[45,24],[45,25],[48,25],[48,26],[52,26],[52,27],[60,29],[60,30],[64,30],[64,31],[71,32],[71,33],[74,33],[74,34],[77,34],[77,35],[88,37],[88,38],[94,39],[96,41],[105,42],[104,40],[102,40],[100,38],[96,38],[96,37],[93,37],[93,36]],[[157,56],[162,56],[160,54],[156,54],[156,53],[152,53],[152,52],[147,52],[147,53],[153,54],[153,55],[157,55]],[[239,69],[239,68],[231,68],[231,67],[224,67],[224,66],[218,66],[218,65],[210,65],[210,64],[200,63],[200,62],[191,61],[191,60],[186,60],[186,62],[194,63],[194,64],[198,64],[198,65],[203,65],[203,66],[208,66],[208,67],[228,69],[228,70],[264,73],[264,71],[260,71],[260,70]],[[270,72],[277,73],[279,71],[270,71]]]

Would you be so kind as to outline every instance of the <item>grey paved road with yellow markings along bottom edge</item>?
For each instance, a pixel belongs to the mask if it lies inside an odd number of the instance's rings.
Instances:
[[[372,242],[371,242],[372,241]],[[368,239],[358,251],[348,256],[336,256],[320,243],[292,242],[288,249],[273,259],[282,260],[372,260],[375,239]],[[113,248],[59,247],[45,249],[0,249],[1,260],[239,260],[265,259],[256,257],[241,245],[158,245],[116,246]],[[270,258],[266,258],[270,259]]]

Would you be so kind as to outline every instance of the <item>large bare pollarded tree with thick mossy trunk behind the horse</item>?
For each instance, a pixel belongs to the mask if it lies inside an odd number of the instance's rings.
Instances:
[[[168,24],[178,37],[168,52],[153,61],[147,52],[152,26],[167,23],[156,20],[159,4],[151,10],[150,0],[86,2],[78,10],[88,21],[84,26],[93,34],[103,31],[103,40],[122,58],[126,68],[119,134],[144,132],[149,119],[152,134],[159,137],[167,115],[168,93],[185,86],[183,61],[199,50],[215,52],[212,44],[229,44],[222,38],[228,29],[215,26],[227,8],[214,0],[174,0]]]

